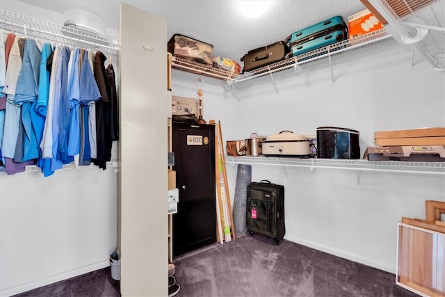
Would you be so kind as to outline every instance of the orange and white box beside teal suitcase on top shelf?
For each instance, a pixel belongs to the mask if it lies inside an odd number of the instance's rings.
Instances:
[[[382,23],[367,8],[348,17],[348,38],[354,38],[382,28]]]

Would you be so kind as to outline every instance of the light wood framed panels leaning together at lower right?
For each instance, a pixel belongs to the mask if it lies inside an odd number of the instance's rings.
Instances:
[[[401,227],[399,232],[398,281],[426,296],[443,297],[445,296],[445,202],[426,200],[425,205],[425,220],[402,218],[403,224],[418,229]]]

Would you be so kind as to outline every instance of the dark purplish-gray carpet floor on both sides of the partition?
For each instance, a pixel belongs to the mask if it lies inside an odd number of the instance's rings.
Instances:
[[[415,297],[394,274],[261,234],[188,252],[174,259],[180,297]],[[15,297],[118,297],[119,281],[100,269]]]

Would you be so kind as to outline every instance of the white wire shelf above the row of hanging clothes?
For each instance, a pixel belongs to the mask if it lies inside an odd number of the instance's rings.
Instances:
[[[35,17],[0,10],[0,28],[35,38],[41,42],[56,42],[72,47],[100,50],[106,54],[118,54],[118,41],[67,26],[61,26]]]

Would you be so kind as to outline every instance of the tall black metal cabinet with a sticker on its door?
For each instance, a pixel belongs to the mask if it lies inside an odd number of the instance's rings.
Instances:
[[[178,212],[173,257],[216,242],[215,126],[172,122]]]

